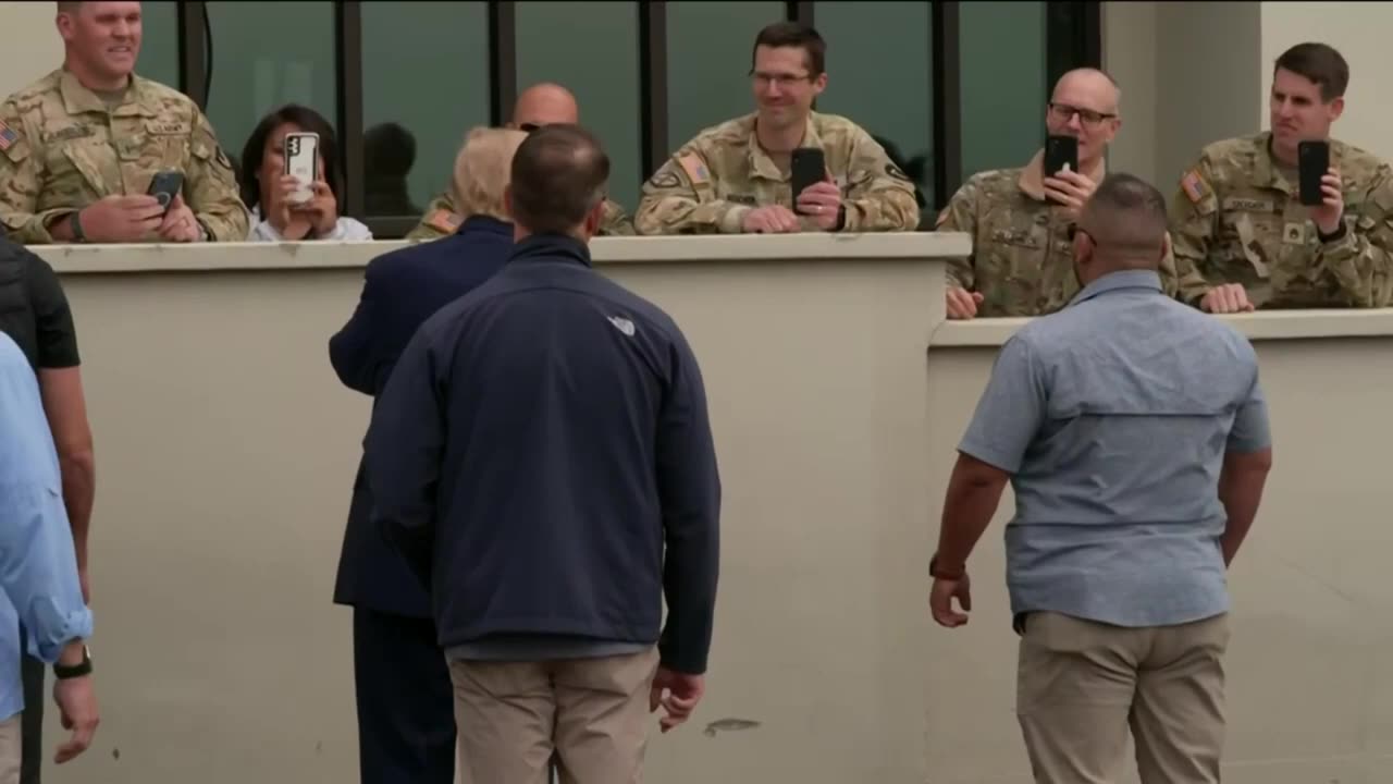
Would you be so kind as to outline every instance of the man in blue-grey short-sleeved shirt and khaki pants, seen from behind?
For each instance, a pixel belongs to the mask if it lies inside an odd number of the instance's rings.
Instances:
[[[1106,177],[1073,232],[1084,289],[1003,347],[943,505],[933,619],[1007,481],[1017,716],[1038,784],[1219,781],[1227,565],[1272,465],[1248,340],[1162,293],[1166,202]],[[954,610],[953,600],[958,610]]]

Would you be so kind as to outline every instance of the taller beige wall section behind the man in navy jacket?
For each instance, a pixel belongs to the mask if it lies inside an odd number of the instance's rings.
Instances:
[[[694,725],[655,734],[652,780],[924,780],[924,352],[943,312],[925,257],[965,243],[596,243],[687,332],[724,483],[709,692]],[[47,250],[96,434],[106,711],[53,781],[357,780],[350,614],[330,594],[368,402],[326,343],[384,247]],[[666,261],[623,261],[645,257]],[[279,269],[226,269],[248,259]],[[762,725],[702,735],[722,717]]]

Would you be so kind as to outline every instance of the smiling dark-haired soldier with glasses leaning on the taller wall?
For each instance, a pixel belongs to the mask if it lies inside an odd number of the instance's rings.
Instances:
[[[703,130],[644,184],[634,213],[639,234],[741,232],[912,232],[914,184],[871,134],[846,117],[819,114],[827,85],[826,45],[795,22],[755,39],[752,114]],[[827,181],[794,204],[790,159],[823,151]]]

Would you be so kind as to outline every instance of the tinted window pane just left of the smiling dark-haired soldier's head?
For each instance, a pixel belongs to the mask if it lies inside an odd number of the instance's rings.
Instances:
[[[784,14],[784,3],[667,3],[667,151],[755,110],[748,75],[755,36]]]

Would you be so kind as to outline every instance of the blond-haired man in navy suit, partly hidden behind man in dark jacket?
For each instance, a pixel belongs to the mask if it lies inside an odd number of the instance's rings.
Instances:
[[[525,135],[474,130],[454,173],[457,204],[469,218],[453,236],[383,254],[368,265],[357,311],[329,340],[329,357],[344,385],[380,395],[421,322],[507,261],[513,226],[503,193]],[[364,476],[359,463],[334,586],[334,603],[354,607],[361,780],[453,784],[454,696],[436,643],[430,596],[373,525]]]

